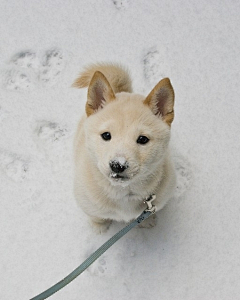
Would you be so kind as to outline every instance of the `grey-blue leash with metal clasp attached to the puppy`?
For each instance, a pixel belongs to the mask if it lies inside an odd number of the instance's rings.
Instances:
[[[144,203],[147,204],[147,208],[141,213],[139,217],[137,217],[134,221],[116,233],[113,237],[111,237],[107,242],[105,242],[100,248],[98,248],[93,254],[91,254],[79,267],[77,267],[74,271],[72,271],[67,277],[42,292],[41,294],[31,298],[30,300],[44,300],[54,293],[58,292],[60,289],[65,287],[71,281],[73,281],[77,276],[79,276],[83,271],[85,271],[96,259],[98,259],[105,251],[107,251],[113,244],[115,244],[121,237],[123,237],[128,231],[130,231],[133,227],[145,221],[152,214],[155,213],[156,207],[152,204],[152,202],[156,199],[156,195],[150,195],[145,199]]]

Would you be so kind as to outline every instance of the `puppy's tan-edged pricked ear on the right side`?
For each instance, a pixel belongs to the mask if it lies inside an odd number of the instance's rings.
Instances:
[[[174,118],[174,90],[168,78],[164,78],[153,88],[143,102],[148,105],[152,112],[161,116],[169,126]]]

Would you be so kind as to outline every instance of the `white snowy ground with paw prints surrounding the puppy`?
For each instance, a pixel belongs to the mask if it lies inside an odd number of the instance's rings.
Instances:
[[[240,3],[0,0],[0,299],[29,299],[122,228],[96,236],[73,196],[82,67],[116,61],[176,93],[174,199],[56,300],[240,299]]]

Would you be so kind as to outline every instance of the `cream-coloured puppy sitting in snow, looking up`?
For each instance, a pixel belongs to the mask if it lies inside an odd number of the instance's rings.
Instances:
[[[75,137],[75,196],[98,232],[131,221],[156,194],[163,208],[175,187],[169,155],[174,91],[168,78],[147,97],[132,93],[120,66],[87,67],[74,85],[88,87],[86,114]],[[144,227],[155,225],[150,217]]]

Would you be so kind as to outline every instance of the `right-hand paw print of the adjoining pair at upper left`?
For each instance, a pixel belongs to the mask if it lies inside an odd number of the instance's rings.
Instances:
[[[60,49],[52,49],[45,53],[39,80],[46,85],[54,85],[64,68],[64,57]]]

